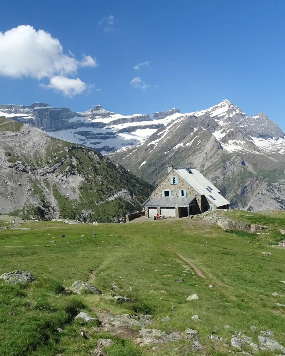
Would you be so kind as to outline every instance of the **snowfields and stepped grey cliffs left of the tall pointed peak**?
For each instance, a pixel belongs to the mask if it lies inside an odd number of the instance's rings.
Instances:
[[[100,151],[103,155],[139,146],[160,127],[181,116],[180,110],[157,112],[157,119],[149,114],[121,115],[100,105],[84,112],[68,108],[51,108],[47,104],[31,106],[0,105],[0,116],[38,127],[61,140],[80,143]]]

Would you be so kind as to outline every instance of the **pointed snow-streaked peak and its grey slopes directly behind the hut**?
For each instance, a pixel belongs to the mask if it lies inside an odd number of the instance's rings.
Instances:
[[[176,114],[141,146],[110,157],[152,183],[169,163],[197,168],[233,208],[285,209],[284,132],[263,113],[248,116],[228,100]]]

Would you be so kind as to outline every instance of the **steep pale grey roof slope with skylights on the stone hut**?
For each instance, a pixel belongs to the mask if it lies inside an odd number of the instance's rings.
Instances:
[[[197,169],[179,168],[174,169],[174,171],[179,174],[179,176],[183,178],[188,184],[190,184],[191,187],[196,190],[196,192],[201,195],[205,195],[205,197],[214,205],[223,206],[230,204],[229,201],[227,201],[227,199],[225,199],[220,194],[220,190],[218,190],[215,185],[213,185],[207,178],[205,178],[203,174],[197,171]],[[209,192],[207,188],[211,190],[211,192]]]

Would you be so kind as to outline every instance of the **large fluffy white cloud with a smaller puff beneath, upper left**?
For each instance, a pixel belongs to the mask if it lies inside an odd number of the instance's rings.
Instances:
[[[75,75],[80,67],[97,67],[98,64],[96,58],[85,55],[78,61],[68,51],[69,55],[65,54],[59,40],[50,33],[36,31],[29,25],[0,32],[0,75],[49,78],[49,88],[60,90],[64,95],[79,94],[86,89],[85,83],[79,78],[69,79],[67,75]]]

